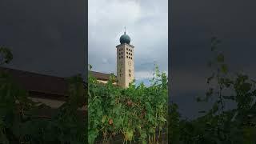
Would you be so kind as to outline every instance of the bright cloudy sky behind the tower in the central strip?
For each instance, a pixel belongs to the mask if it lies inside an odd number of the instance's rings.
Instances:
[[[152,77],[154,63],[168,71],[167,0],[89,0],[88,63],[93,70],[116,74],[116,48],[124,32],[134,46],[135,78]]]

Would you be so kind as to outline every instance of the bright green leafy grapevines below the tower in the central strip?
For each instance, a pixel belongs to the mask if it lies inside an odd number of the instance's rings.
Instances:
[[[110,142],[122,134],[124,142],[156,143],[166,132],[167,77],[156,66],[152,85],[130,83],[127,89],[113,84],[114,75],[106,85],[89,75],[88,137]]]

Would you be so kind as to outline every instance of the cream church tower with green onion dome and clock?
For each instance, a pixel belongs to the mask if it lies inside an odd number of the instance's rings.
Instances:
[[[126,34],[126,30],[116,48],[118,86],[126,88],[134,81],[134,46],[130,45],[130,37]]]

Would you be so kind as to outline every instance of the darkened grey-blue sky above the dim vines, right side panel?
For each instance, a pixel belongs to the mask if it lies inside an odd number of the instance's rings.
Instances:
[[[256,2],[175,0],[171,5],[171,98],[191,116],[197,113],[190,108],[196,106],[195,95],[204,93],[211,74],[206,63],[212,36],[222,40],[220,50],[231,70],[256,78]]]

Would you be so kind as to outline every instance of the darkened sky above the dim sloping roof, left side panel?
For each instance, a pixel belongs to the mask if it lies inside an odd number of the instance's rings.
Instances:
[[[0,45],[14,53],[8,65],[19,70],[62,77],[86,67],[86,2],[0,2]]]

